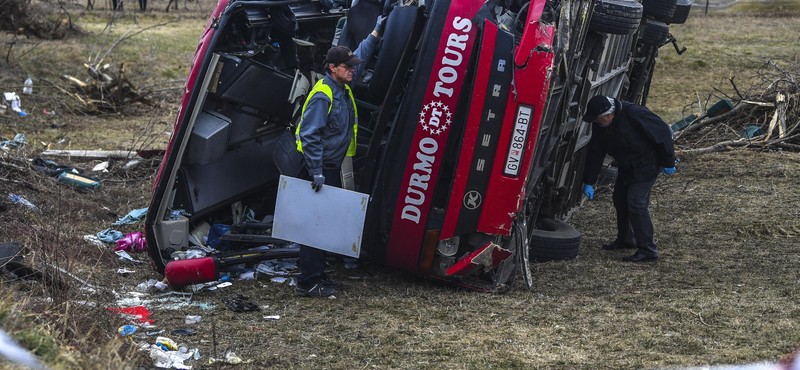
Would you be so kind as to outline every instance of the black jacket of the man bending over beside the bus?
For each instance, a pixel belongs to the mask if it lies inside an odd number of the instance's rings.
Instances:
[[[614,120],[608,127],[592,125],[583,182],[594,185],[606,154],[617,161],[618,178],[626,184],[655,179],[663,167],[675,166],[672,130],[649,109],[615,101]]]

